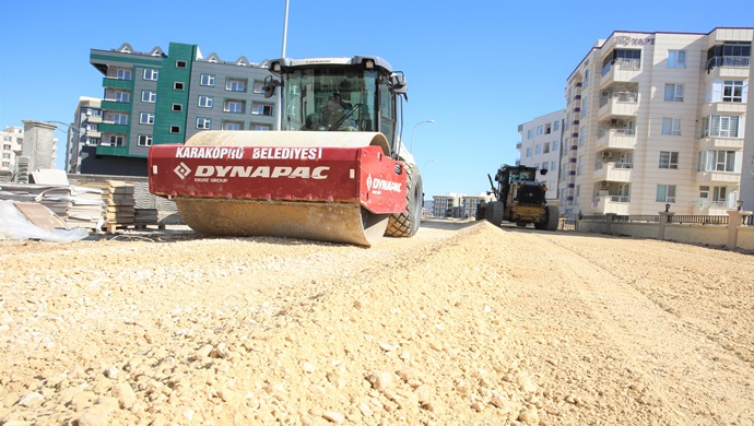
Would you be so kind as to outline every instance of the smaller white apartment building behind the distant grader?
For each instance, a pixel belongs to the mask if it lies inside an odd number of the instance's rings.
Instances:
[[[521,142],[516,144],[519,151],[518,163],[522,166],[546,169],[546,175],[537,173],[537,180],[543,181],[547,188],[544,197],[557,200],[557,176],[562,150],[563,119],[565,110],[534,118],[518,126]]]

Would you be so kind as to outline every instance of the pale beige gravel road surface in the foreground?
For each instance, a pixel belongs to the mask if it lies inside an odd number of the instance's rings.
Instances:
[[[747,253],[427,221],[0,259],[4,425],[754,424]]]

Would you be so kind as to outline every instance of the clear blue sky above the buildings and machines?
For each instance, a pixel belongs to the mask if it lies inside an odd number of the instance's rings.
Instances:
[[[284,0],[7,2],[0,126],[70,122],[79,96],[102,97],[93,48],[167,50],[178,42],[223,60],[279,58],[284,9]],[[475,194],[487,189],[487,173],[518,158],[518,125],[565,107],[565,80],[598,39],[718,26],[754,26],[754,2],[290,0],[286,56],[376,55],[403,71],[403,140],[415,128],[425,193]],[[58,157],[62,168],[62,145]]]

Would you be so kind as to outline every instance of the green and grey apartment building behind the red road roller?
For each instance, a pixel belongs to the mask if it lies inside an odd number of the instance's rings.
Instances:
[[[204,58],[197,45],[141,52],[123,44],[92,49],[90,63],[104,75],[101,121],[85,121],[98,138],[84,138],[81,150],[69,146],[70,158],[81,158],[79,167],[67,162],[69,171],[145,176],[153,143],[184,143],[210,129],[271,130],[275,122],[276,102],[262,91],[267,66],[243,56],[223,61]]]

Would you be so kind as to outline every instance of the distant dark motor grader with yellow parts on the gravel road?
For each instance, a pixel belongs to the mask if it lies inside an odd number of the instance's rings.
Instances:
[[[537,167],[503,165],[495,175],[497,186],[487,175],[494,200],[476,208],[475,220],[486,220],[500,226],[504,221],[526,227],[533,223],[537,229],[556,230],[559,218],[557,205],[547,205],[547,188],[537,180]],[[546,169],[539,169],[546,175]]]

